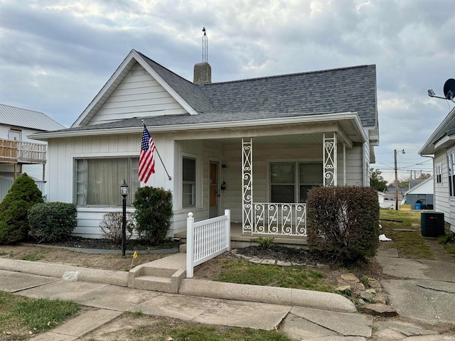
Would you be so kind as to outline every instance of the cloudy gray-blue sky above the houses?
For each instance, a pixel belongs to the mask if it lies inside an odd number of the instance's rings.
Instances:
[[[375,64],[377,163],[432,172],[417,151],[453,102],[451,0],[0,0],[0,103],[70,126],[133,48],[193,80],[208,34],[213,82]],[[373,91],[373,89],[372,89]],[[330,97],[327,98],[330,100]]]

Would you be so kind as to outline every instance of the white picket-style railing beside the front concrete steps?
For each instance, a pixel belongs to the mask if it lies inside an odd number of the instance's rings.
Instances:
[[[186,219],[186,278],[193,277],[195,266],[230,250],[230,210],[225,215],[194,222]]]

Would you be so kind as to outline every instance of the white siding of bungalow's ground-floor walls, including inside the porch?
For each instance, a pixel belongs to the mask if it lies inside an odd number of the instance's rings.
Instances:
[[[232,222],[242,222],[242,146],[221,144],[216,139],[174,141],[173,134],[152,136],[156,147],[172,180],[168,180],[158,155],[156,173],[149,183],[154,187],[163,187],[173,193],[173,225],[169,235],[186,230],[188,212],[193,212],[195,220],[208,218],[209,163],[218,161],[220,165],[220,183],[225,181],[226,190],[220,193],[219,212],[231,210]],[[92,136],[87,138],[55,139],[50,141],[50,169],[48,172],[50,193],[49,201],[74,202],[74,158],[100,158],[114,156],[139,156],[140,134],[124,136]],[[348,185],[363,183],[363,146],[346,149],[346,178]],[[257,144],[253,139],[253,193],[256,202],[269,200],[268,165],[271,161],[319,161],[322,163],[321,145],[279,145]],[[198,202],[196,207],[181,207],[181,159],[182,156],[197,159]],[[338,179],[343,183],[343,147],[338,146]],[[120,207],[80,207],[78,226],[75,234],[84,237],[100,237],[99,223],[106,212],[119,210]]]

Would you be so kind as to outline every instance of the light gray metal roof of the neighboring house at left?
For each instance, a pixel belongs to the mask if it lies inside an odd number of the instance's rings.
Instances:
[[[0,104],[0,124],[9,124],[41,131],[64,129],[65,126],[54,121],[42,112],[11,107]]]

